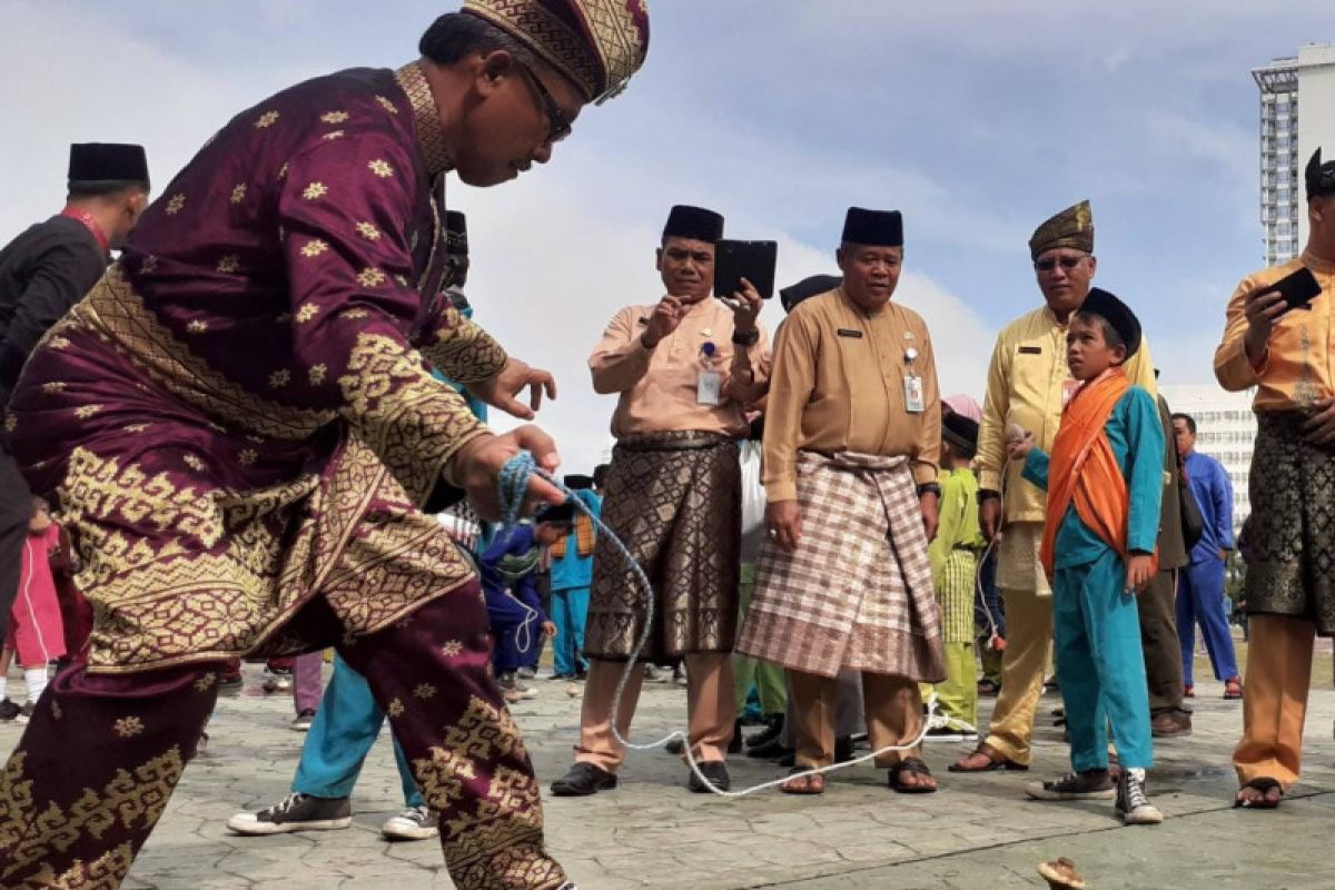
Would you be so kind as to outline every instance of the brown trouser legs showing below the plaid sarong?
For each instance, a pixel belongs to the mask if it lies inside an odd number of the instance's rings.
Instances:
[[[793,714],[797,718],[797,765],[829,766],[834,762],[834,714],[838,705],[838,678],[788,671],[793,687]],[[922,731],[922,697],[913,681],[890,674],[862,671],[862,710],[872,750],[902,745]],[[908,757],[921,757],[921,749],[890,751],[876,758],[889,767]]]

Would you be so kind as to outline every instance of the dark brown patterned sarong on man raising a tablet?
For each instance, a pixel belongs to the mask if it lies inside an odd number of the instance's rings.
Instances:
[[[741,464],[717,434],[625,436],[611,452],[602,520],[653,583],[643,659],[730,652],[737,632]],[[645,627],[645,592],[606,535],[593,556],[587,658],[625,659]]]

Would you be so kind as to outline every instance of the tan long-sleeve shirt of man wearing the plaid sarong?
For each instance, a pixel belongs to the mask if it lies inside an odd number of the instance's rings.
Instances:
[[[921,378],[918,412],[908,410],[909,376]],[[936,479],[941,400],[932,339],[917,312],[888,303],[872,314],[842,288],[793,310],[774,335],[764,447],[769,500],[797,498],[800,450],[905,455],[918,484]]]

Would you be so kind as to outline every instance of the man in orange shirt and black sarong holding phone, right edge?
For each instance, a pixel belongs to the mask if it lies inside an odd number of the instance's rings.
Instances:
[[[1272,809],[1298,781],[1312,638],[1335,635],[1335,161],[1307,164],[1307,248],[1254,272],[1228,302],[1215,376],[1256,387],[1244,543],[1250,647],[1236,806]],[[1312,298],[1311,282],[1320,288]],[[1299,287],[1295,290],[1295,284]],[[1296,296],[1290,296],[1296,295]],[[1307,299],[1304,299],[1304,296]]]

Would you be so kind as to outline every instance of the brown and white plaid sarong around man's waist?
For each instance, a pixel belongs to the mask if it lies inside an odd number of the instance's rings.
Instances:
[[[834,677],[841,667],[945,679],[941,612],[906,458],[797,455],[802,538],[768,538],[737,651]]]

